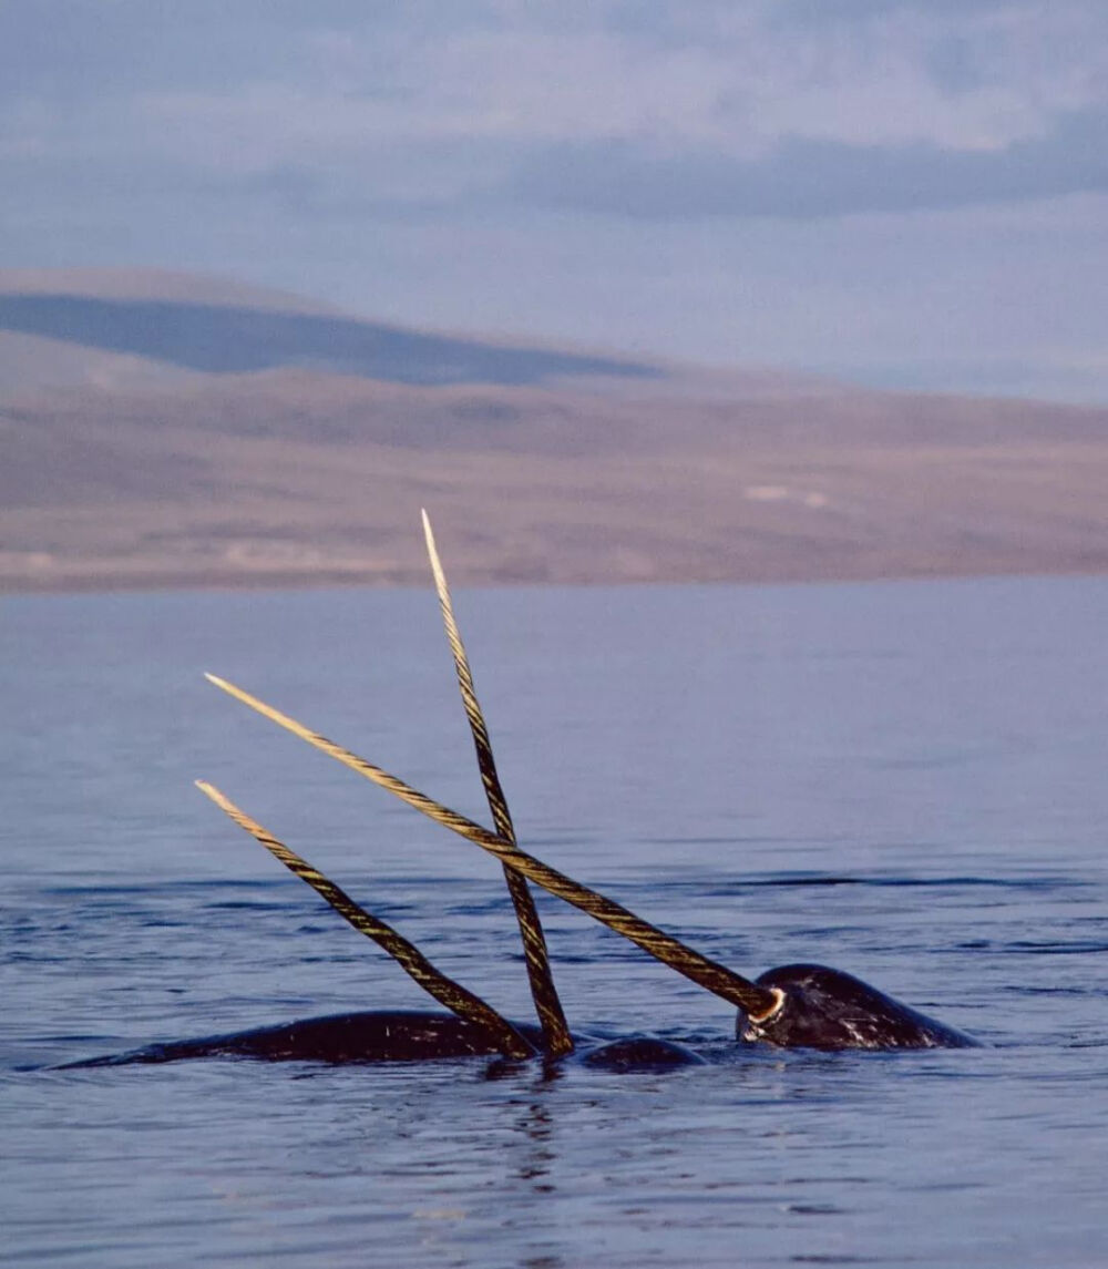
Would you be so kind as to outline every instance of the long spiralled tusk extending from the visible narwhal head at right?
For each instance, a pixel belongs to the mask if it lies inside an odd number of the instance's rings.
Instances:
[[[632,943],[637,943],[638,947],[649,952],[657,961],[668,964],[671,970],[676,970],[678,973],[683,973],[687,978],[690,978],[706,990],[722,996],[723,1000],[729,1000],[753,1016],[764,1015],[767,1010],[777,1006],[777,996],[769,989],[759,987],[756,983],[750,982],[749,978],[744,978],[726,966],[716,961],[709,961],[707,957],[701,956],[699,952],[693,952],[684,943],[665,934],[649,921],[643,921],[626,907],[621,907],[619,904],[605,898],[586,886],[579,884],[557,869],[544,864],[541,859],[525,854],[510,841],[498,838],[496,834],[482,829],[480,824],[473,824],[472,820],[466,819],[466,816],[459,815],[457,811],[452,811],[449,807],[433,801],[425,793],[420,793],[418,789],[405,784],[404,780],[390,775],[388,772],[374,766],[372,763],[367,763],[364,758],[352,754],[349,749],[343,749],[341,745],[327,740],[326,736],[320,736],[317,732],[310,731],[303,723],[289,718],[288,714],[274,709],[273,706],[265,704],[264,700],[250,695],[242,688],[236,688],[234,683],[220,679],[214,674],[208,674],[206,678],[211,683],[214,683],[217,688],[222,688],[223,692],[250,706],[251,709],[284,727],[286,731],[300,736],[301,740],[306,740],[315,749],[329,754],[344,766],[349,766],[350,770],[358,772],[359,775],[364,775],[366,779],[372,780],[374,784],[379,784],[381,788],[388,789],[390,793],[393,793],[409,806],[414,806],[437,824],[442,824],[444,827],[453,830],[459,836],[467,838],[490,854],[496,855],[503,863],[523,873],[524,877],[542,886],[551,895],[564,898],[567,904],[572,904],[574,907],[588,912],[589,916],[600,921],[602,925],[607,925],[609,929],[616,930],[617,934],[622,934],[624,938],[631,939]]]

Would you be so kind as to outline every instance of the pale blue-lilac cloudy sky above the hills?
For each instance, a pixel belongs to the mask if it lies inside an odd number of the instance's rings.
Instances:
[[[1108,402],[1104,0],[0,0],[0,268]]]

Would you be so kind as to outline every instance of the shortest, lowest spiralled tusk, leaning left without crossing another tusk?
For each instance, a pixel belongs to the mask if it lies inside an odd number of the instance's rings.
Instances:
[[[245,829],[251,838],[260,841],[286,868],[294,872],[301,881],[306,881],[316,893],[322,895],[331,907],[340,916],[344,916],[355,930],[373,939],[378,947],[385,948],[392,959],[424,991],[430,992],[439,1004],[445,1005],[458,1018],[484,1027],[490,1032],[498,1048],[505,1057],[522,1058],[534,1056],[534,1049],[531,1044],[491,1005],[485,1004],[480,996],[475,996],[472,991],[467,991],[461,983],[454,982],[453,978],[448,978],[444,973],[440,973],[414,943],[409,943],[391,925],[386,925],[379,917],[372,912],[367,912],[364,907],[355,904],[345,891],[339,890],[333,881],[312,868],[306,859],[302,859],[294,850],[284,845],[283,841],[278,841],[272,832],[263,829],[256,820],[251,820],[245,811],[235,806],[213,784],[208,784],[207,780],[197,780],[195,783],[197,788],[209,797],[221,811],[230,816],[240,829]]]

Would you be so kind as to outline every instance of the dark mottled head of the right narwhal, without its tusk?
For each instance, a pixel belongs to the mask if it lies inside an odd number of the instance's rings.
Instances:
[[[886,996],[841,970],[786,964],[768,970],[759,987],[783,999],[775,1013],[753,1022],[740,1013],[735,1036],[779,1048],[976,1048],[977,1041]]]

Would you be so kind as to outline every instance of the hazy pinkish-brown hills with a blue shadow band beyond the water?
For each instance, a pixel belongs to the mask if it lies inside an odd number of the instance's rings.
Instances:
[[[0,589],[1108,569],[1108,410],[0,272]]]

